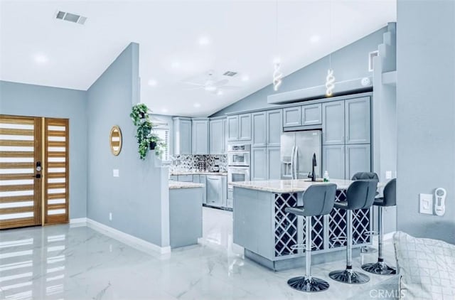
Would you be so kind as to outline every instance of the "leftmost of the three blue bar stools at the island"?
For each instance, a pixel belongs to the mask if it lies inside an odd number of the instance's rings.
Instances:
[[[323,183],[315,184],[306,189],[301,195],[304,206],[294,208],[285,208],[286,213],[292,213],[299,218],[299,215],[305,217],[305,276],[294,277],[287,281],[291,288],[299,291],[325,291],[328,289],[328,282],[311,276],[311,217],[327,215],[331,212],[335,203],[336,184]],[[300,245],[296,245],[299,247]]]

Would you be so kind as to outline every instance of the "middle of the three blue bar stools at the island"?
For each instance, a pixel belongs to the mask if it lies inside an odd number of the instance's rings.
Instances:
[[[346,269],[332,271],[328,276],[346,284],[365,284],[370,281],[367,275],[354,272],[353,256],[353,210],[370,208],[375,200],[378,181],[373,179],[354,181],[346,191],[346,201],[336,202],[334,207],[346,210]]]

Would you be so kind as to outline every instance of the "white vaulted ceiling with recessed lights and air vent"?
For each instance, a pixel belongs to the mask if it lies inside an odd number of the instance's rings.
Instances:
[[[58,20],[57,11],[87,21]],[[136,42],[141,102],[207,116],[268,85],[274,58],[287,75],[395,18],[395,0],[1,0],[0,80],[87,90]],[[209,79],[229,81],[215,91],[196,85]]]

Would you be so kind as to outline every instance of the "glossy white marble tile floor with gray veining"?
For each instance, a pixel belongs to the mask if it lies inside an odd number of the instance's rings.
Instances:
[[[395,262],[390,241],[385,257]],[[377,253],[353,265],[375,262]],[[232,213],[203,208],[198,245],[159,255],[141,252],[90,227],[55,225],[0,232],[0,299],[368,299],[394,289],[397,277],[370,275],[358,286],[328,278],[345,262],[312,267],[328,291],[306,294],[287,286],[304,269],[272,272],[245,259],[232,243]],[[393,298],[391,298],[393,299]]]

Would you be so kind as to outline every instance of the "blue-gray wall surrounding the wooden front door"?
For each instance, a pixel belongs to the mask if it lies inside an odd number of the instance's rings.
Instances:
[[[87,92],[0,81],[0,114],[70,119],[70,218],[87,215]]]

